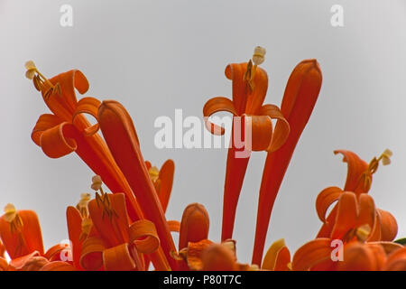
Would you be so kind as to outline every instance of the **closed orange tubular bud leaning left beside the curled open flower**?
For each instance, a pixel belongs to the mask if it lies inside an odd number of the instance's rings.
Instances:
[[[125,107],[113,100],[102,103],[97,119],[115,162],[141,205],[144,217],[155,224],[165,256],[172,269],[176,268],[176,260],[171,257],[171,252],[176,251],[171,230],[143,160],[133,120]]]

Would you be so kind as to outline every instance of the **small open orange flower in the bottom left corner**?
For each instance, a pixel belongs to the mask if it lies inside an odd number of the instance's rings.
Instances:
[[[32,210],[15,210],[13,204],[5,206],[5,214],[0,218],[0,238],[11,258],[7,263],[0,257],[0,268],[4,271],[38,271],[60,258],[69,247],[58,244],[44,252],[42,232],[37,214]],[[69,263],[66,268],[74,270]]]

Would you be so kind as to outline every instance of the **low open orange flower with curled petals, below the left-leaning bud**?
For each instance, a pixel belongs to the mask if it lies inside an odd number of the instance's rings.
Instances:
[[[145,270],[143,255],[158,270],[169,270],[153,223],[146,219],[129,223],[125,195],[103,191],[101,178],[93,178],[96,198],[83,194],[77,208],[67,210],[73,263],[84,270]]]

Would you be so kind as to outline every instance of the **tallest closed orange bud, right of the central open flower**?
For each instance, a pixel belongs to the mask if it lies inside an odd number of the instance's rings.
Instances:
[[[261,265],[263,247],[268,231],[273,203],[283,176],[291,162],[291,156],[300,139],[318,99],[321,89],[321,70],[318,61],[301,61],[291,72],[281,103],[281,114],[289,122],[291,132],[285,144],[276,152],[269,152],[263,168],[258,201],[258,213],[254,240],[253,264]],[[278,129],[278,127],[276,127]]]

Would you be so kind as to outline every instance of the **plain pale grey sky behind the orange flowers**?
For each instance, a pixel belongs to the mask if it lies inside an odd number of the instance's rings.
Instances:
[[[74,9],[74,26],[60,26],[60,5]],[[330,7],[343,5],[345,26],[330,24]],[[247,61],[254,46],[268,51],[265,103],[280,105],[295,65],[316,58],[323,87],[272,213],[266,247],[285,238],[291,251],[314,238],[318,192],[343,186],[346,165],[335,149],[366,161],[385,148],[392,164],[380,167],[371,194],[390,210],[406,236],[406,2],[404,0],[290,1],[45,1],[0,0],[0,206],[36,210],[46,247],[67,238],[66,207],[90,191],[92,172],[76,154],[47,158],[32,143],[32,127],[49,112],[23,64],[33,60],[51,77],[82,70],[89,96],[115,98],[132,117],[143,155],[172,158],[176,180],[168,219],[190,202],[204,204],[210,238],[219,240],[226,150],[158,150],[156,117],[201,116],[205,102],[231,96],[228,63]],[[241,261],[251,260],[258,191],[265,154],[252,157],[236,216]]]

